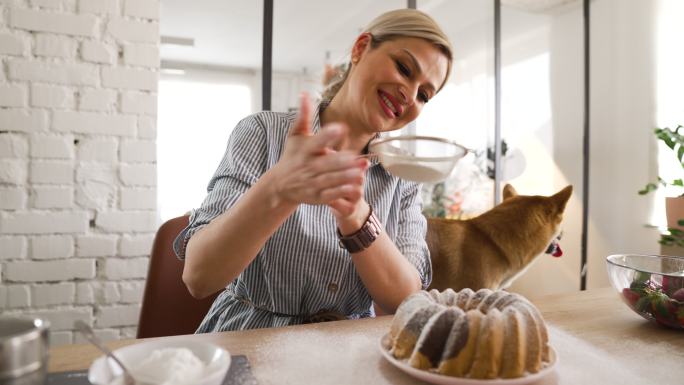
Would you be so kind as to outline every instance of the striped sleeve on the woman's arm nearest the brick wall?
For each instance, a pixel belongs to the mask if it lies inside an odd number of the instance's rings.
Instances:
[[[192,211],[188,226],[174,241],[178,258],[185,258],[185,248],[193,234],[231,208],[259,180],[266,171],[267,156],[267,137],[261,121],[255,115],[241,120],[209,181],[206,198],[200,208]]]

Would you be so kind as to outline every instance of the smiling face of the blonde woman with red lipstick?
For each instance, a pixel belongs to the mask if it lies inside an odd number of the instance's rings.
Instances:
[[[364,34],[354,44],[344,97],[352,127],[374,134],[415,120],[444,83],[449,63],[423,39],[397,38],[376,47],[370,39]]]

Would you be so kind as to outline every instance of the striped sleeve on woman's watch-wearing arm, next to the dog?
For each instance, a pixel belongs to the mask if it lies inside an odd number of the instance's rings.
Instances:
[[[432,281],[430,251],[425,242],[427,221],[422,214],[420,184],[401,181],[401,210],[395,245],[408,261],[416,267],[423,289]]]

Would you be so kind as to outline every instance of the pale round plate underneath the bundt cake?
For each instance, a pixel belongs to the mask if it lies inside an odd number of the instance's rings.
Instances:
[[[474,378],[463,378],[463,377],[452,377],[452,376],[445,376],[443,374],[438,374],[438,373],[433,373],[429,372],[427,370],[420,370],[416,369],[413,366],[409,365],[406,362],[397,360],[390,354],[389,352],[389,334],[385,334],[382,339],[380,340],[380,352],[382,353],[382,356],[385,357],[387,361],[389,361],[390,364],[396,366],[397,368],[401,369],[402,371],[406,372],[407,374],[419,379],[423,380],[425,382],[429,382],[431,384],[437,384],[437,385],[523,385],[523,384],[530,384],[534,383],[536,381],[541,380],[542,378],[548,376],[549,374],[553,373],[554,367],[558,363],[558,356],[556,355],[556,351],[552,348],[549,347],[550,350],[550,356],[551,356],[551,362],[549,363],[548,366],[546,366],[544,369],[540,370],[537,373],[530,374],[524,377],[518,377],[518,378],[497,378],[493,380],[478,380]]]

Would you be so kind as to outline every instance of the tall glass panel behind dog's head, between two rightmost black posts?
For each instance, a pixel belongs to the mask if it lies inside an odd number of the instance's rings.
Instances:
[[[580,282],[581,10],[560,2],[508,2],[501,8],[503,182],[524,195],[552,195],[568,184],[575,188],[565,208],[563,256],[537,257],[511,286],[526,295],[573,291]]]

